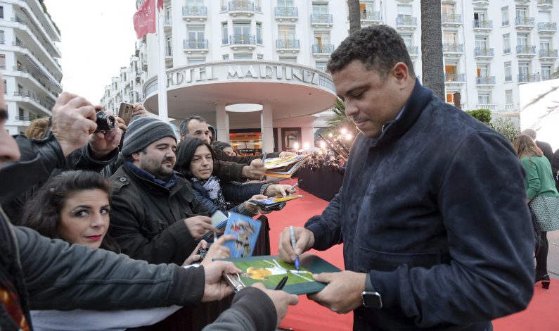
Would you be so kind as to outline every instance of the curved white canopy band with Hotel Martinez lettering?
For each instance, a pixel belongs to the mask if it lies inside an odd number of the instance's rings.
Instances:
[[[222,82],[274,82],[314,86],[335,94],[330,75],[304,65],[269,61],[219,61],[167,70],[167,90]],[[157,75],[145,85],[145,95],[158,90]]]

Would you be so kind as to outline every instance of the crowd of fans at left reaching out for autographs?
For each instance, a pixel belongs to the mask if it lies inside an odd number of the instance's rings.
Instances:
[[[210,216],[256,217],[269,211],[248,200],[295,192],[260,181],[262,156],[236,156],[196,115],[177,144],[141,104],[98,131],[100,107],[67,92],[14,140],[1,95],[0,330],[275,330],[297,303],[262,284],[232,299],[221,275],[241,270],[213,261],[234,238],[212,238]]]

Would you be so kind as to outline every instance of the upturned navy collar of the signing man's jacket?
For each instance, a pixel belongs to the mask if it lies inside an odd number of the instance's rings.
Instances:
[[[383,126],[383,133],[377,138],[372,138],[371,147],[382,146],[390,142],[394,142],[404,135],[411,125],[416,122],[417,118],[432,98],[432,91],[421,86],[416,78],[416,86],[413,87],[411,95],[406,101],[406,105],[393,120],[389,120]]]

